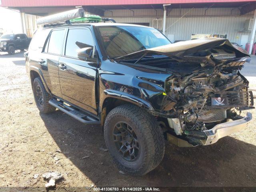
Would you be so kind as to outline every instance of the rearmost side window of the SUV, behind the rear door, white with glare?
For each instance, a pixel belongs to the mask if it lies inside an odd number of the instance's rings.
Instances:
[[[29,50],[42,51],[44,42],[49,34],[49,30],[37,30],[30,42]]]

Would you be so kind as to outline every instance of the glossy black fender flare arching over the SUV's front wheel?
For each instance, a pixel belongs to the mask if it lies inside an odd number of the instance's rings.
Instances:
[[[142,98],[138,98],[136,96],[133,96],[131,94],[128,93],[124,93],[124,92],[120,92],[120,91],[116,91],[116,90],[104,90],[103,91],[104,96],[101,96],[101,100],[100,100],[100,108],[102,110],[103,108],[103,104],[104,101],[107,98],[116,98],[116,99],[120,99],[120,100],[124,100],[126,102],[130,102],[132,104],[138,105],[142,108],[145,108],[147,110],[154,110],[153,106],[150,104],[150,102],[143,100]]]

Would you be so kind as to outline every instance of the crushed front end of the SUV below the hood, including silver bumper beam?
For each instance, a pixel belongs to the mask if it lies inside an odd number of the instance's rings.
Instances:
[[[168,118],[169,126],[178,138],[193,146],[213,144],[245,128],[252,119],[250,113],[240,116],[242,110],[254,107],[248,81],[237,69],[220,68],[172,77],[166,82],[166,94],[172,100],[175,117]]]

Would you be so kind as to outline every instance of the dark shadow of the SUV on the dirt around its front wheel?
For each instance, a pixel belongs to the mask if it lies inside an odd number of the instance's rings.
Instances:
[[[100,150],[104,136],[99,126],[60,111],[40,116],[62,153],[97,186],[256,186],[256,146],[229,136],[195,148],[166,142],[160,166],[135,177],[120,174],[108,152]]]

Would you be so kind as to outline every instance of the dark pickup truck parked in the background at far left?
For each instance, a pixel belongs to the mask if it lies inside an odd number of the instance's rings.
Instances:
[[[30,41],[26,34],[4,34],[0,37],[0,51],[13,55],[15,50],[27,49]]]

